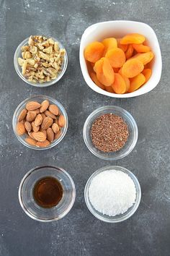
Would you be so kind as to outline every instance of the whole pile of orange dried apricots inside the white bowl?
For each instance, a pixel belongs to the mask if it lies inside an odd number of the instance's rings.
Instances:
[[[105,38],[89,43],[84,57],[91,80],[109,93],[132,93],[151,77],[148,63],[153,52],[143,35],[133,33],[123,38]]]

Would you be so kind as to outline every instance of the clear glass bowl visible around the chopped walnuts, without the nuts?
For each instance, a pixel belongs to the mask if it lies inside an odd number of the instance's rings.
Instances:
[[[50,37],[52,38],[52,37]],[[55,38],[52,38],[53,40],[55,40],[55,42],[58,42],[58,45],[60,46],[60,48],[63,48],[63,45]],[[18,58],[22,58],[22,51],[21,51],[21,48],[22,46],[26,46],[28,44],[28,40],[29,38],[26,38],[22,41],[22,43],[19,44],[19,46],[17,47],[15,53],[14,53],[14,68],[17,72],[17,74],[19,75],[19,77],[24,81],[24,82],[27,82],[27,84],[29,85],[32,85],[32,86],[35,86],[35,87],[40,87],[40,88],[44,88],[44,87],[48,87],[50,85],[53,85],[55,84],[55,82],[58,82],[59,80],[61,80],[61,77],[63,77],[63,74],[66,72],[66,68],[67,68],[67,64],[68,64],[68,56],[67,56],[67,53],[64,55],[64,61],[63,61],[63,65],[61,67],[61,73],[58,74],[58,77],[56,77],[54,80],[51,80],[50,82],[30,82],[28,81],[22,74],[22,69],[21,67],[19,66],[18,64]],[[65,49],[66,51],[66,49]]]

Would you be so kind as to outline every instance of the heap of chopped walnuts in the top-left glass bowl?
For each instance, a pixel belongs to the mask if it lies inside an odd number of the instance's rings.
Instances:
[[[18,58],[18,64],[28,81],[50,82],[60,74],[66,51],[53,38],[31,35],[28,45],[22,46],[21,51],[22,58]]]

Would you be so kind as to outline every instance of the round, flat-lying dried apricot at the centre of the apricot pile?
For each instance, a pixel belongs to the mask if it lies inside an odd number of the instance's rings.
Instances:
[[[112,67],[122,67],[126,61],[125,53],[120,48],[107,51],[106,58],[109,59],[109,63]]]

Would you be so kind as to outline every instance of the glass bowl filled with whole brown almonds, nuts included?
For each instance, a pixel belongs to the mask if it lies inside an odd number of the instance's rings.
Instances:
[[[61,142],[68,128],[68,116],[61,103],[49,96],[38,95],[19,104],[12,126],[23,145],[43,150]]]

